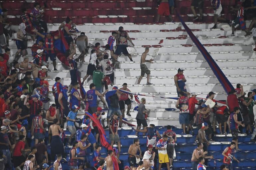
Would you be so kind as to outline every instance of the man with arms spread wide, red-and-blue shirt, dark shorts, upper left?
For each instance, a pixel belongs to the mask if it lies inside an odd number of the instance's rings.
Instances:
[[[59,39],[61,37],[60,33],[59,33],[59,36],[52,36],[50,31],[48,31],[46,33],[46,35],[41,34],[36,29],[33,29],[32,31],[36,32],[39,36],[44,38],[45,50],[46,50],[46,62],[48,61],[48,58],[50,57],[51,61],[53,61],[54,70],[57,70],[56,69],[56,54],[54,52],[54,40]]]

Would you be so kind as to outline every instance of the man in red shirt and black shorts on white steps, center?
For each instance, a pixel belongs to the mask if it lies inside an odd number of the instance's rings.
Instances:
[[[120,88],[120,90],[130,91],[127,88],[127,83],[124,83],[123,87]],[[129,95],[131,96],[131,99],[133,99],[133,95],[132,94],[128,94],[128,93],[124,93],[124,92],[121,92],[121,91],[119,91],[119,92],[120,92],[119,107],[120,107],[120,110],[122,112],[122,115],[124,117],[124,109],[125,109],[125,105],[127,105],[127,113],[126,113],[126,115],[127,116],[131,116],[130,109],[132,107],[132,103],[131,103],[131,100],[129,99]]]

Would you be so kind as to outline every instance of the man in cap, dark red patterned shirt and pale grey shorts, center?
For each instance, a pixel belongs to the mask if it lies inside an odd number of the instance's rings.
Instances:
[[[118,145],[118,151],[121,152],[121,141],[119,138],[119,135],[117,133],[118,131],[118,116],[119,114],[117,112],[113,113],[113,118],[109,121],[109,138],[110,138],[110,145],[113,147],[114,143],[117,143]],[[117,154],[117,158],[119,158],[119,153]]]

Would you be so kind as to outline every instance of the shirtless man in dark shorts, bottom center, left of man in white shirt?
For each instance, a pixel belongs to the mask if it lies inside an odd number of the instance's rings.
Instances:
[[[137,155],[138,150],[140,152],[140,155]],[[128,154],[128,162],[130,166],[137,165],[136,158],[141,158],[140,140],[138,138],[133,140],[133,144],[131,144],[129,147]]]

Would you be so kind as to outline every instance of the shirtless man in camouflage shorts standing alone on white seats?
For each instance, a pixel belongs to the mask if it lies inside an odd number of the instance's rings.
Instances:
[[[138,85],[140,84],[140,81],[144,77],[145,73],[147,74],[147,85],[153,85],[152,83],[149,83],[150,70],[148,69],[148,67],[145,64],[145,62],[153,63],[153,61],[154,61],[152,58],[150,60],[146,60],[148,52],[149,52],[149,47],[146,47],[145,52],[142,53],[142,55],[141,55],[141,59],[140,59],[141,75],[140,75],[140,78],[137,83]]]

